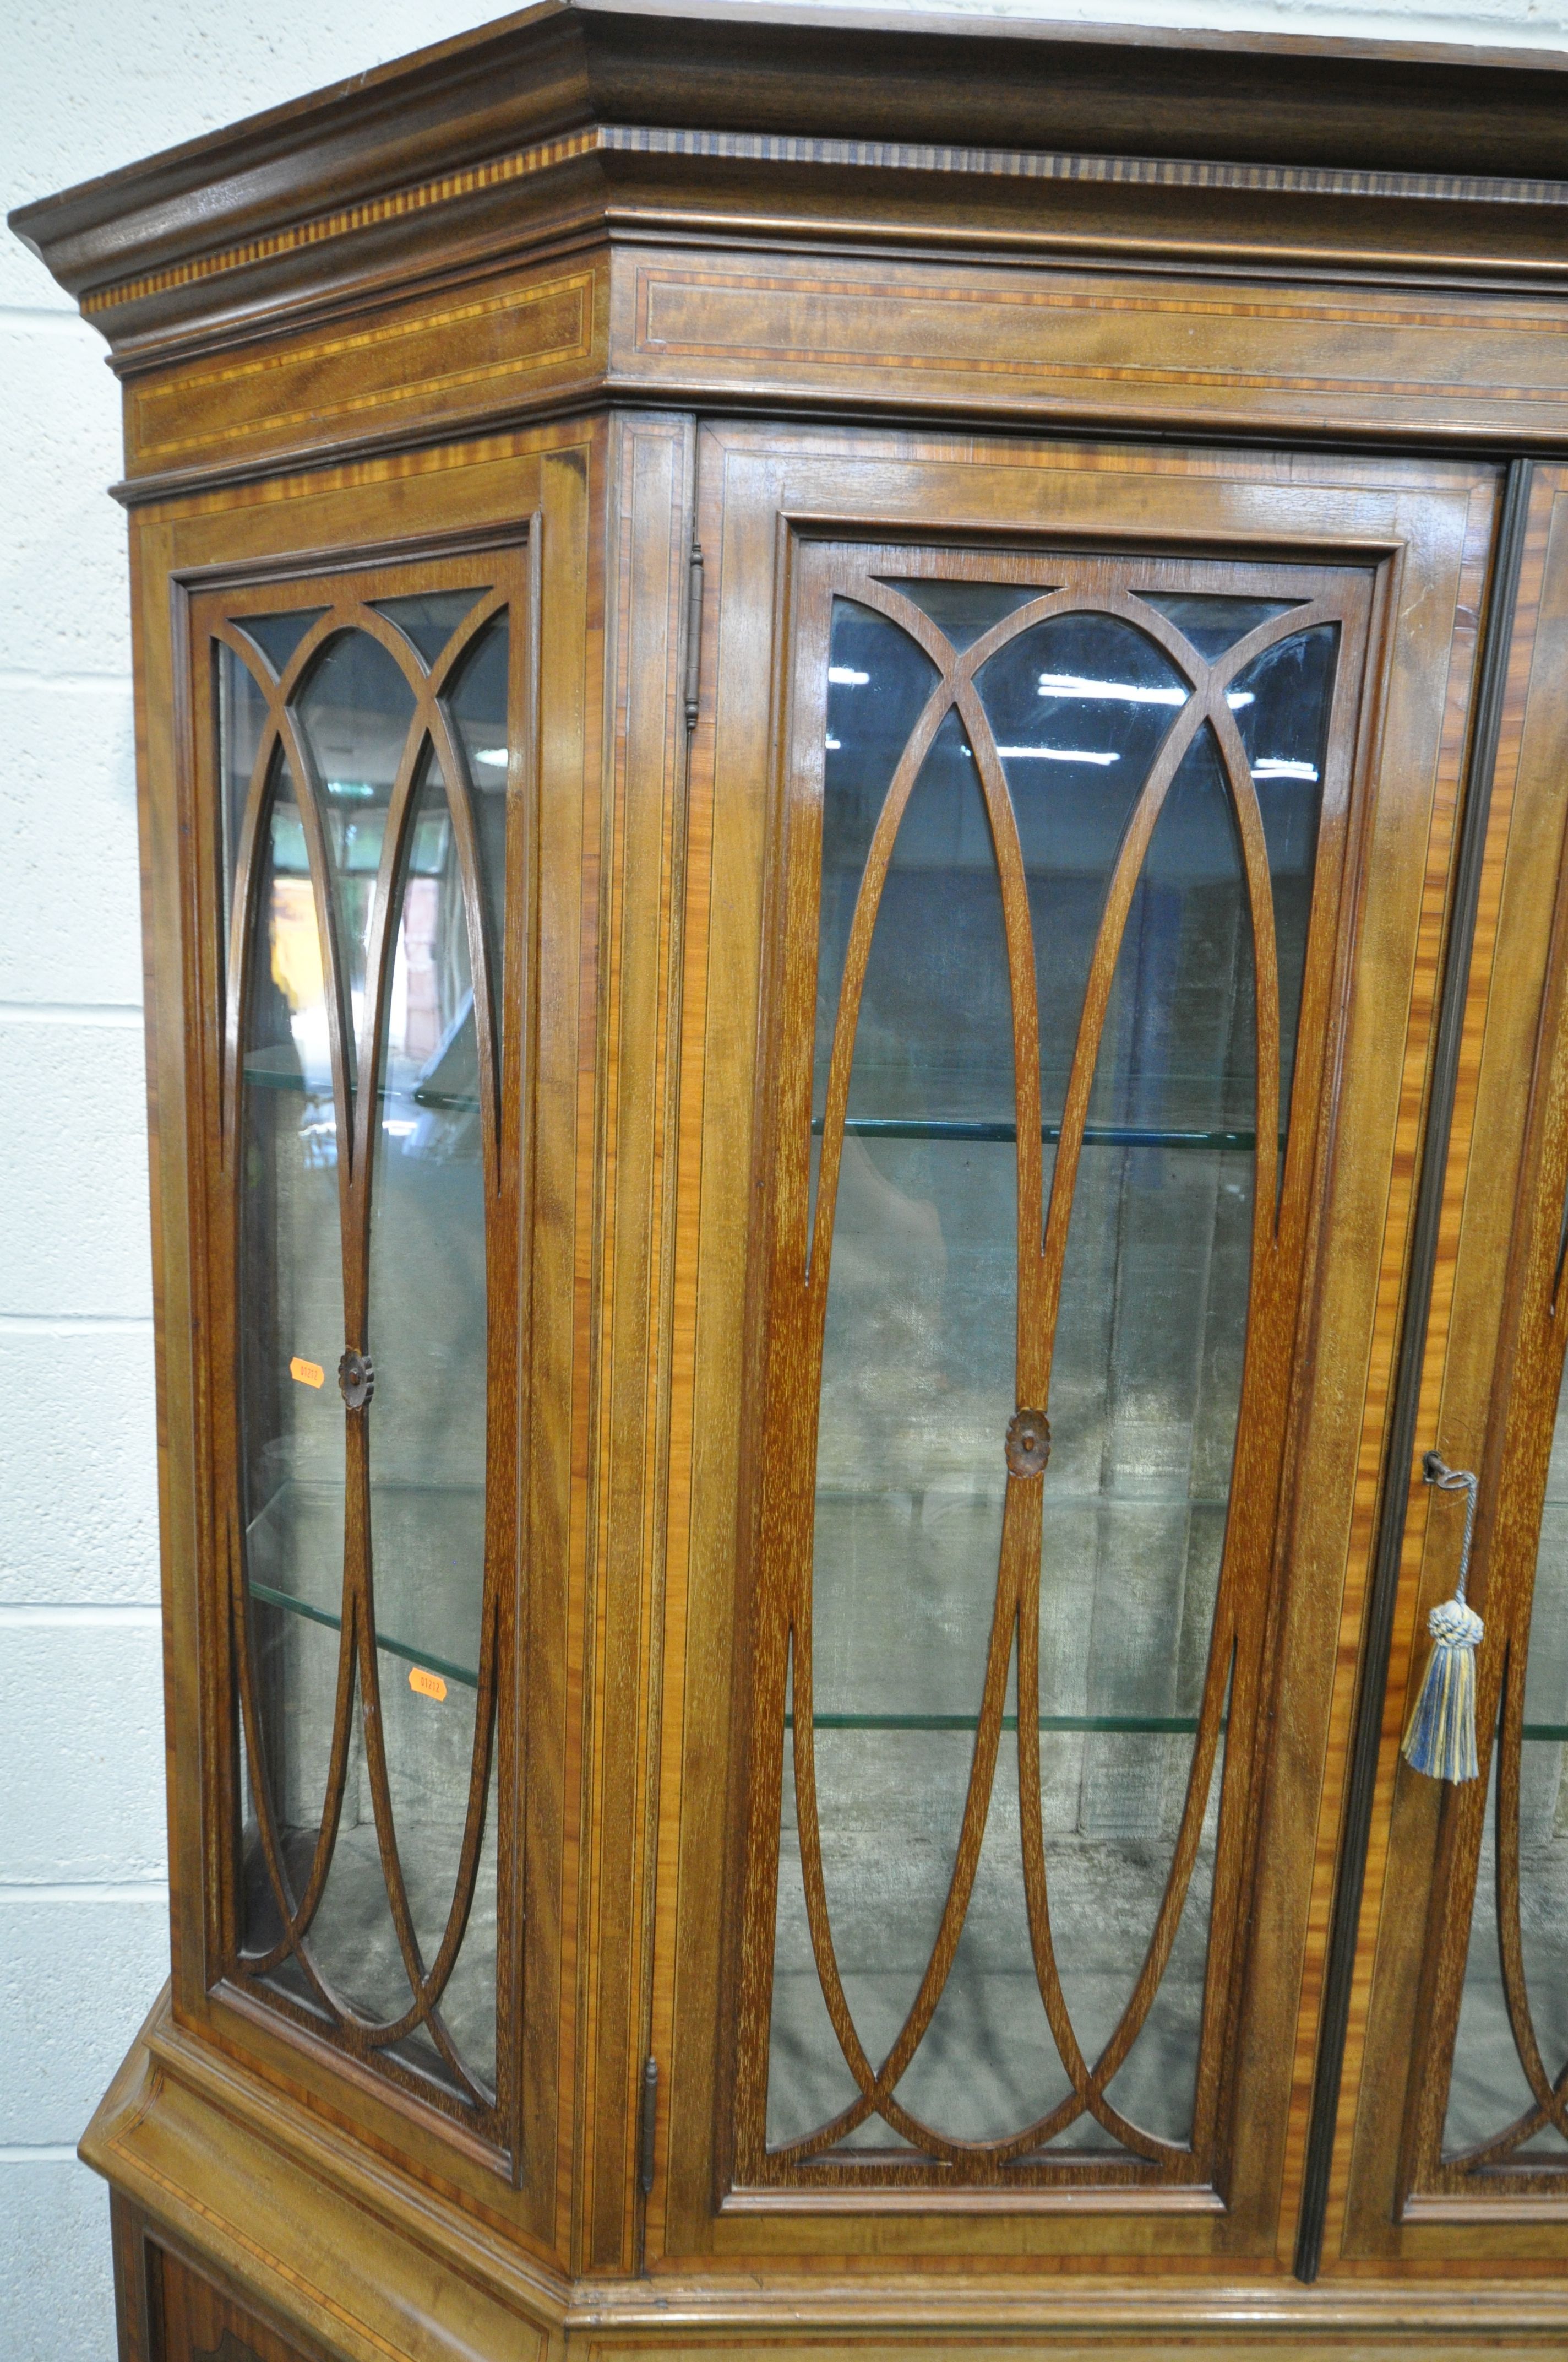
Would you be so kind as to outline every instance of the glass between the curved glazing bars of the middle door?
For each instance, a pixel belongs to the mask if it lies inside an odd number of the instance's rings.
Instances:
[[[1034,588],[900,581],[973,645]],[[1178,607],[1181,602],[1167,602]],[[1219,647],[1289,600],[1181,616]],[[1216,612],[1226,609],[1226,612]],[[1230,711],[1266,808],[1275,909],[1292,916],[1282,1025],[1294,1058],[1334,635],[1254,661]],[[1197,666],[1197,650],[1193,668]],[[1273,661],[1270,661],[1273,659]],[[867,855],[909,730],[935,687],[893,626],[834,602],[822,805],[812,1150]],[[1067,612],[1023,626],[978,690],[1018,831],[1039,999],[1051,1190],[1105,898],[1190,678],[1133,624]],[[1306,768],[1311,746],[1313,779]],[[1270,779],[1273,770],[1273,779]],[[1285,928],[1282,928],[1285,933]],[[1214,727],[1183,753],[1115,957],[1077,1169],[1053,1346],[1053,1457],[1039,1554],[1039,1698],[1013,1653],[997,1779],[968,1906],[949,1890],[975,1760],[1018,1405],[1018,1096],[1001,869],[980,763],[947,711],[876,905],[831,1207],[810,1594],[822,1899],[874,2067],[907,2027],[940,1930],[940,2001],[878,2112],[834,2154],[928,2140],[1030,2154],[1129,2152],[1074,2095],[1046,2020],[1023,1883],[1018,1715],[1039,1720],[1044,1871],[1060,1994],[1086,2060],[1117,2031],[1171,1894],[1183,1812],[1197,1847],[1174,1944],[1110,2105],[1178,2152],[1193,2140],[1223,1731],[1188,1797],[1211,1665],[1247,1337],[1256,1164],[1256,976],[1235,789]],[[822,1252],[824,1240],[817,1240]],[[1011,1514],[1011,1512],[1008,1512]],[[1008,1528],[1011,1531],[1011,1528]],[[1034,1613],[1034,1609],[1032,1609]],[[796,1705],[775,1923],[767,2145],[857,2105],[808,1930]],[[900,2053],[902,2055],[902,2053]],[[1053,2116],[1058,2112],[1058,2116]],[[1027,2140],[1025,2140],[1027,2147]]]

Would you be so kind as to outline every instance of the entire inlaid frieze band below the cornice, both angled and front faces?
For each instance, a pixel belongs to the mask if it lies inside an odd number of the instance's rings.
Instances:
[[[935,288],[919,265],[822,269],[782,248],[765,269],[652,260],[614,231],[574,272],[477,279],[364,326],[135,373],[128,496],[385,449],[435,420],[479,430],[595,387],[1542,439],[1563,432],[1561,383],[1563,326],[1530,295],[1459,309],[1436,291],[1339,300],[1237,276],[1176,293],[1048,267],[1027,283],[945,269]]]

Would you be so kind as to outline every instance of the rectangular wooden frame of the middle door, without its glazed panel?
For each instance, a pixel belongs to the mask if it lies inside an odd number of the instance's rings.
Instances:
[[[1464,463],[1410,465],[1389,461],[1332,461],[1296,463],[1292,494],[1296,508],[1275,494],[1278,517],[1263,524],[1266,515],[1252,491],[1270,482],[1270,458],[1237,454],[1216,461],[1204,454],[1202,477],[1195,475],[1185,494],[1178,491],[1178,463],[1169,446],[1159,454],[1143,454],[1131,446],[1096,449],[1084,444],[975,444],[954,451],[952,444],[935,442],[935,456],[923,461],[921,437],[897,439],[867,432],[864,437],[822,430],[772,430],[711,425],[704,430],[704,472],[699,477],[699,536],[704,543],[708,574],[718,576],[718,621],[711,624],[704,645],[704,683],[711,680],[711,699],[704,699],[704,718],[697,732],[694,782],[692,782],[692,914],[687,940],[694,964],[687,966],[687,1030],[682,1072],[704,1075],[701,1129],[687,1131],[682,1143],[682,1257],[692,1271],[687,1294],[694,1294],[697,1327],[687,1323],[678,1335],[675,1389],[692,1403],[694,1462],[701,1472],[692,1490],[690,1472],[673,1469],[671,1502],[673,1521],[690,1516],[690,1533],[675,1528],[671,1535],[671,1571],[680,1564],[680,1542],[690,1547],[687,1580],[690,1625],[682,1627],[682,1606],[675,1580],[671,1580],[673,1620],[666,1639],[666,1665],[671,1684],[675,1672],[685,1682],[682,1717],[690,1743],[685,1757],[671,1746],[666,1750],[664,1788],[680,1795],[687,1783],[687,1828],[666,1812],[661,1857],[661,1904],[664,1934],[659,1939],[659,1984],[654,2048],[668,2060],[671,2100],[661,2131],[661,2173],[675,2171],[675,2182],[656,2185],[649,2201],[649,2263],[654,2268],[690,2268],[699,2253],[713,2260],[741,2265],[767,2256],[803,2258],[822,2253],[831,2244],[836,2253],[852,2253],[871,2244],[878,2253],[942,2253],[966,2249],[987,2263],[1004,2268],[1004,2256],[1018,2263],[1027,2256],[1034,2268],[1058,2258],[1058,2268],[1112,2268],[1117,2256],[1138,2253],[1150,2258],[1164,2253],[1174,2268],[1230,2270],[1247,2258],[1249,2268],[1278,2270],[1289,2237],[1289,2187],[1294,2182],[1301,2140],[1301,2112],[1311,2088],[1311,1953],[1301,1951],[1308,1923],[1322,1911],[1325,1883],[1332,1880],[1337,1802],[1322,1790],[1322,1767],[1329,1760],[1329,1727],[1341,1729],[1348,1712],[1348,1665],[1344,1632],[1358,1613],[1358,1580],[1365,1571],[1365,1523],[1370,1516],[1367,1453],[1377,1453],[1381,1434],[1381,1396],[1377,1384],[1379,1356],[1386,1351],[1393,1306],[1400,1287],[1400,1257],[1407,1238],[1407,1181],[1403,1160],[1396,1155],[1396,1134],[1405,1138],[1419,1124],[1424,1068],[1433,997],[1429,990],[1431,952],[1424,947],[1440,942],[1448,895],[1450,831],[1457,813],[1462,758],[1464,758],[1464,697],[1474,661],[1474,616],[1481,605],[1481,586],[1488,565],[1490,534],[1497,501],[1497,472]],[[1053,458],[1060,475],[1053,475]],[[888,463],[895,465],[888,465]],[[992,475],[985,475],[985,463]],[[966,468],[975,475],[966,482]],[[1008,491],[994,489],[994,475],[1008,468]],[[1141,468],[1159,470],[1157,505],[1145,503]],[[838,475],[836,475],[838,470]],[[860,470],[860,472],[857,472]],[[942,470],[947,470],[942,475]],[[1115,505],[1093,505],[1105,484],[1117,477],[1131,479],[1126,487],[1129,513],[1122,529],[1133,534],[1141,548],[1200,546],[1209,553],[1235,548],[1237,541],[1254,553],[1285,560],[1304,555],[1322,560],[1329,553],[1355,562],[1381,565],[1386,572],[1389,631],[1403,628],[1393,619],[1419,605],[1415,588],[1415,565],[1426,569],[1436,562],[1433,534],[1440,510],[1438,487],[1448,487],[1450,498],[1462,491],[1466,522],[1459,527],[1455,548],[1459,557],[1445,562],[1445,586],[1464,574],[1466,595],[1452,612],[1452,633],[1443,640],[1440,680],[1436,709],[1448,709],[1445,725],[1424,725],[1412,711],[1417,694],[1415,673],[1403,676],[1386,654],[1374,659],[1374,678],[1381,683],[1372,699],[1363,727],[1363,756],[1358,770],[1372,761],[1370,749],[1379,749],[1381,803],[1374,798],[1360,805],[1358,827],[1365,831],[1353,850],[1355,890],[1346,905],[1339,945],[1339,983],[1334,1006],[1341,997],[1344,1020],[1351,1023],[1355,1056],[1341,1068],[1341,1108],[1332,1138],[1320,1141],[1320,1179],[1329,1198],[1315,1231],[1315,1254],[1322,1254],[1329,1233],[1344,1224],[1358,1224],[1363,1235],[1367,1224],[1377,1224],[1381,1257],[1377,1280],[1370,1273],[1360,1283],[1344,1268],[1334,1275],[1334,1264],[1322,1264],[1322,1287],[1327,1290],[1313,1311],[1318,1344],[1313,1353],[1329,1353],[1337,1365],[1351,1351],[1346,1337],[1346,1294],[1355,1299],[1355,1287],[1372,1294],[1360,1301],[1353,1316],[1353,1332],[1365,1335],[1363,1353],[1370,1368],[1351,1372],[1355,1415],[1348,1417],[1344,1403],[1327,1415],[1322,1405],[1311,1412],[1306,1434],[1299,1441],[1304,1464],[1296,1467],[1296,1509],[1292,1549],[1301,1566],[1289,1601],[1280,1604],[1280,1646],[1285,1668],[1280,1679],[1289,1682],[1275,1691],[1275,1715],[1280,1701],[1296,1701],[1275,1720],[1275,1760],[1270,1764],[1270,1800],[1266,1814],[1280,1816],[1275,1826],[1315,1826],[1318,1852],[1313,1861],[1311,1901],[1301,1897],[1299,1925],[1282,1939],[1282,1899],[1268,1887],[1259,1901],[1256,1942],[1287,1942],[1294,1968],[1285,1970],[1285,1982],[1306,1972],[1308,2001],[1294,2034],[1273,2029],[1266,2036],[1256,2027],[1256,2012],[1240,2029],[1247,2057],[1256,2055],[1259,2041],[1278,2041],[1292,2050],[1287,2076],[1289,2100],[1280,2095],[1268,2123],[1242,2126],[1242,2138],[1270,2142],[1270,2166],[1237,2168],[1235,2187],[1261,2187],[1278,2192],[1247,2206],[1214,2208],[1197,2216],[1162,2218],[1162,2230],[1136,2213],[1112,2220],[1098,2201],[1079,2199],[1074,2206],[1027,2216],[1006,2199],[999,2211],[997,2199],[975,2206],[956,2192],[947,2201],[959,2213],[945,2208],[909,2211],[904,2199],[900,2213],[895,2201],[841,2201],[831,2213],[831,2237],[827,2220],[812,2223],[810,2208],[786,2201],[779,2192],[765,2208],[737,2201],[727,2194],[723,2166],[725,2145],[720,2133],[720,2100],[716,2095],[713,2010],[704,1996],[734,1991],[734,1951],[730,1942],[720,1949],[711,1927],[711,1908],[704,1913],[673,1906],[671,1894],[682,1897],[725,1892],[734,1887],[734,1864],[744,1800],[720,1786],[711,1767],[727,1760],[734,1741],[725,1738],[727,1701],[734,1698],[737,1722],[744,1727],[746,1649],[739,1625],[732,1632],[727,1599],[734,1599],[737,1566],[751,1557],[753,1509],[753,1455],[751,1429],[737,1422],[737,1403],[756,1401],[760,1386],[760,1335],[763,1301],[758,1294],[756,1259],[749,1257],[749,1240],[758,1235],[763,1212],[763,1157],[765,1134],[760,1131],[765,1089],[758,1079],[758,1051],[765,1039],[760,1030],[763,994],[770,990],[763,978],[779,940],[777,914],[777,796],[779,796],[779,716],[784,711],[784,628],[775,616],[786,612],[789,562],[796,534],[836,539],[902,539],[919,541],[921,531],[933,531],[937,520],[940,539],[961,539],[987,531],[1013,534],[1013,546],[1025,539],[1039,546],[1051,531],[1067,539],[1115,541]],[[1306,477],[1306,484],[1304,484]],[[999,475],[997,475],[999,479]],[[1355,522],[1346,522],[1351,494],[1329,517],[1332,498],[1327,487],[1351,482],[1363,498]],[[1415,482],[1412,482],[1415,479]],[[935,484],[952,487],[945,496]],[[1202,517],[1197,510],[1197,484],[1204,484]],[[1313,510],[1308,487],[1322,482]],[[737,484],[751,491],[734,496]],[[956,487],[966,484],[966,494]],[[1244,508],[1247,527],[1237,536],[1226,522],[1226,487],[1235,484],[1237,513]],[[1405,487],[1400,510],[1398,487]],[[1183,498],[1188,508],[1183,510]],[[1011,508],[1006,503],[1013,503]],[[1384,508],[1379,510],[1379,501]],[[1327,505],[1325,505],[1327,503]],[[1426,510],[1422,503],[1429,503]],[[1110,513],[1108,513],[1110,510]],[[1443,510],[1445,513],[1445,510]],[[1379,520],[1374,524],[1374,517]],[[1424,520],[1424,522],[1422,522]],[[1452,539],[1452,536],[1450,536]],[[1415,553],[1415,565],[1403,567],[1403,550]],[[744,574],[741,574],[744,569]],[[1459,569],[1459,572],[1455,572]],[[744,595],[730,588],[744,579]],[[1426,586],[1431,590],[1431,583]],[[1448,600],[1448,590],[1443,593]],[[730,605],[727,605],[730,600]],[[1459,612],[1464,609],[1464,612]],[[1448,612],[1448,607],[1445,607]],[[1381,631],[1381,626],[1379,626]],[[1450,645],[1452,642],[1452,645]],[[1381,645],[1381,642],[1379,642]],[[1436,645],[1436,642],[1433,642]],[[1422,666],[1438,659],[1422,640]],[[1410,659],[1407,659],[1410,661]],[[1417,671],[1422,671],[1417,666]],[[1429,694],[1433,680],[1429,676]],[[734,718],[732,718],[734,716]],[[1419,753],[1417,753],[1419,749]],[[1419,775],[1422,787],[1412,784]],[[767,789],[763,791],[763,782]],[[1422,794],[1424,820],[1417,824],[1407,803]],[[1436,805],[1433,805],[1436,798]],[[1405,829],[1393,827],[1393,810],[1405,813]],[[1431,829],[1431,836],[1429,836]],[[711,834],[708,834],[711,831]],[[1412,864],[1410,843],[1419,839],[1419,855]],[[1426,867],[1422,867],[1426,864]],[[706,890],[704,890],[706,888]],[[1403,898],[1403,900],[1400,900]],[[1370,978],[1351,968],[1355,945],[1372,942],[1389,954],[1389,926],[1393,907],[1403,909],[1407,928],[1407,966],[1400,968],[1396,1001],[1410,999],[1410,1039],[1377,1039],[1377,1020],[1370,997]],[[1417,957],[1417,952],[1422,957]],[[713,980],[723,978],[716,994]],[[1381,1001],[1386,1006],[1386,997]],[[1389,1027],[1381,1027],[1389,1035]],[[1374,1079],[1372,1079],[1374,1077]],[[1379,1096],[1381,1094],[1381,1096]],[[744,1120],[741,1120],[744,1110]],[[756,1113],[753,1113],[756,1110]],[[697,1117],[697,1103],[692,1103]],[[1367,1143],[1377,1141],[1377,1150]],[[1379,1164],[1379,1157],[1384,1160]],[[1381,1174],[1381,1179],[1379,1179]],[[701,1188],[701,1238],[692,1226],[694,1190]],[[746,1278],[749,1273],[749,1278]],[[1339,1297],[1337,1297],[1339,1292]],[[720,1309],[730,1301],[730,1311]],[[1360,1323],[1355,1327],[1355,1323]],[[1334,1344],[1327,1346],[1325,1337]],[[694,1356],[694,1358],[692,1358]],[[1348,1372],[1344,1363],[1341,1377]],[[692,1391],[694,1389],[694,1391]],[[1327,1389],[1332,1391],[1332,1389]],[[1348,1386],[1346,1386],[1348,1391]],[[1365,1424],[1363,1424],[1365,1412]],[[1329,1441],[1332,1436],[1332,1441]],[[1320,1495],[1320,1479],[1313,1474],[1320,1460],[1339,1467],[1344,1493],[1344,1516],[1353,1521],[1351,1535],[1329,1538],[1322,1533],[1325,1519],[1308,1505]],[[734,1464],[739,1486],[723,1486],[720,1469]],[[1355,1509],[1351,1509],[1351,1500]],[[734,1519],[734,1523],[727,1523]],[[727,1531],[725,1531],[727,1528]],[[737,1545],[739,1535],[739,1545]],[[739,1547],[739,1559],[737,1559]],[[1346,1587],[1346,1547],[1351,1549],[1351,1580]],[[741,1594],[746,1585],[739,1585]],[[701,1601],[701,1604],[699,1604]],[[1308,1677],[1306,1694],[1311,1710],[1299,1703],[1299,1665],[1311,1649],[1304,1618],[1318,1618],[1318,1672]],[[1325,1623],[1327,1618],[1327,1623]],[[1341,1635],[1339,1649],[1322,1646],[1322,1632]],[[730,1653],[734,1651],[734,1653]],[[1329,1663],[1332,1660],[1332,1663]],[[675,1691],[666,1698],[666,1729],[673,1729]],[[1313,1736],[1308,1741],[1306,1729]],[[1289,1743],[1280,1746],[1280,1736]],[[1320,1812],[1322,1807],[1322,1812]],[[687,1835],[694,1833],[694,1835]],[[723,1866],[720,1866],[723,1864]],[[673,1916],[671,1916],[673,1913]],[[701,1918],[701,1927],[697,1925]],[[1289,1911],[1285,1911],[1289,1918]],[[1294,1949],[1292,1949],[1294,1946]],[[727,2003],[732,2005],[732,2003]],[[668,2159],[678,2164],[671,2168]],[[664,2204],[661,2204],[664,2201]],[[888,2206],[900,2213],[900,2227],[886,2220]],[[1280,2213],[1280,2204],[1285,2211]],[[961,2223],[961,2227],[959,2227]],[[881,2225],[881,2227],[878,2227]],[[1152,2242],[1152,2244],[1150,2244]]]

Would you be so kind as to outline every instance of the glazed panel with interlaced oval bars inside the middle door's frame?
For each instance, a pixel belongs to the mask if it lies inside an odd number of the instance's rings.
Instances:
[[[890,555],[798,614],[739,2171],[1195,2182],[1363,593]]]

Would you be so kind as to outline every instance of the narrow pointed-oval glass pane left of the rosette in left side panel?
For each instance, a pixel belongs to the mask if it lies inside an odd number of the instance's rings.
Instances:
[[[239,1115],[241,1519],[272,1802],[298,1861],[321,1821],[342,1601],[342,1235],[321,935],[283,763],[253,909]],[[272,1939],[269,1925],[248,1930],[250,1949]]]

